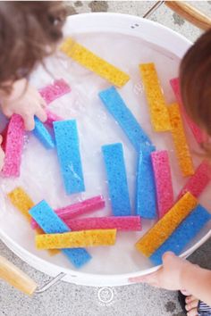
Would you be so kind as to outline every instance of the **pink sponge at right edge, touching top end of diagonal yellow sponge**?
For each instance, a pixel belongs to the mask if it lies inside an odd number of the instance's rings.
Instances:
[[[186,192],[190,192],[195,197],[198,197],[202,191],[207,187],[211,179],[211,166],[208,162],[202,162],[199,164],[198,169],[194,175],[190,177],[186,185],[181,189],[178,199]]]

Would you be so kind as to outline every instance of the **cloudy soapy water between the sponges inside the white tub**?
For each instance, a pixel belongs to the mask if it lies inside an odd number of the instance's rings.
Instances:
[[[112,62],[122,71],[130,74],[131,80],[118,91],[141,127],[156,145],[156,149],[168,150],[175,198],[186,179],[181,176],[181,170],[174,154],[171,134],[167,132],[155,133],[152,130],[148,105],[139,76],[139,63],[155,62],[166,103],[171,104],[175,102],[175,97],[169,79],[177,77],[179,59],[169,52],[162,51],[162,48],[149,45],[137,37],[114,33],[102,33],[99,37],[98,34],[90,33],[89,37],[80,35],[76,38],[82,45],[87,46],[107,62]],[[40,66],[33,73],[31,76],[33,85],[41,88],[53,83],[55,79],[64,79],[72,88],[71,93],[56,99],[48,106],[50,111],[55,112],[63,119],[77,120],[86,191],[66,195],[55,150],[46,150],[32,133],[27,133],[24,140],[21,177],[18,179],[0,179],[2,189],[0,194],[0,225],[4,233],[30,253],[48,262],[54,262],[60,267],[74,269],[62,254],[50,257],[46,251],[36,250],[34,231],[21,214],[4,198],[5,194],[13,190],[14,187],[21,186],[31,196],[34,203],[45,198],[46,202],[54,209],[92,196],[104,195],[105,209],[86,216],[109,216],[111,215],[111,204],[101,146],[121,142],[134,213],[138,157],[122,129],[106,112],[104,104],[97,96],[99,91],[111,86],[108,82],[60,53],[46,59],[46,69],[47,71]],[[197,144],[187,127],[186,131],[190,149],[197,149]],[[193,156],[195,167],[198,166],[200,160],[198,156]],[[208,186],[199,199],[207,209],[209,209],[209,188]],[[89,253],[93,258],[81,271],[119,274],[152,267],[152,263],[136,251],[134,244],[154,223],[155,220],[142,220],[142,231],[118,232],[114,246],[89,248]],[[203,229],[196,240],[203,237],[206,232],[207,229]],[[193,244],[196,240],[193,241]]]

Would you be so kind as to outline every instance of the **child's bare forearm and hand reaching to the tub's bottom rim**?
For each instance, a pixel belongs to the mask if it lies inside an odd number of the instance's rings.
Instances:
[[[163,267],[143,277],[131,278],[131,282],[148,283],[168,290],[186,290],[211,306],[211,271],[165,253]]]

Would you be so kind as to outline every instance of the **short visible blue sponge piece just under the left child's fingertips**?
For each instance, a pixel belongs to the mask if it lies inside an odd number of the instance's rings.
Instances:
[[[35,128],[33,129],[34,136],[46,147],[51,149],[55,147],[55,141],[50,135],[44,124],[35,117]]]

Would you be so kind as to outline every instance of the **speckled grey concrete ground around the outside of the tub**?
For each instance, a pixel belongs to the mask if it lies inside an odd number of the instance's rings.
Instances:
[[[122,12],[142,16],[155,2],[150,1],[76,1],[67,2],[70,14],[80,12]],[[211,15],[211,1],[193,2],[200,10]],[[169,28],[194,41],[200,31],[190,23],[171,12],[165,5],[160,7],[150,20],[163,23]],[[15,256],[3,243],[0,254],[26,271],[39,285],[49,277],[30,268]],[[201,246],[190,260],[211,269],[211,240]],[[32,298],[22,295],[9,285],[0,281],[0,316],[181,316],[177,294],[155,289],[146,285],[111,288],[114,298],[109,304],[99,296],[100,288],[80,287],[64,282]],[[102,294],[102,292],[101,292]],[[107,293],[104,293],[104,297]],[[100,298],[101,297],[101,298]]]

